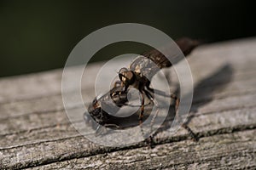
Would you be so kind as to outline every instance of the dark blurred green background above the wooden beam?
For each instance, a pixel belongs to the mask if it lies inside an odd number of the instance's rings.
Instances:
[[[0,77],[61,68],[83,37],[117,23],[141,23],[174,39],[192,37],[205,42],[255,36],[255,10],[242,2],[1,1]],[[92,61],[142,53],[146,48],[131,42],[113,44]]]

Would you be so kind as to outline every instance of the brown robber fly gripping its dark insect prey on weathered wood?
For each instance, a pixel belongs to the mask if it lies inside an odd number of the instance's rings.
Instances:
[[[190,54],[190,52],[199,45],[199,42],[191,40],[189,38],[182,38],[176,41],[178,47],[182,50],[184,55]],[[128,104],[127,94],[131,88],[136,88],[141,94],[141,105],[139,113],[139,125],[143,123],[143,116],[145,110],[145,98],[148,98],[154,105],[157,102],[151,93],[157,91],[154,88],[150,88],[150,81],[152,77],[160,71],[162,68],[171,67],[172,63],[161,54],[158,50],[152,50],[149,53],[139,55],[136,59],[131,62],[129,68],[121,68],[119,70],[119,81],[114,83],[113,88],[107,94],[96,97],[88,107],[90,116],[96,123],[104,127],[119,127],[116,122],[114,114],[110,115],[107,111],[102,109],[103,105],[108,105],[110,108],[115,108],[113,112],[119,110],[119,108]],[[179,99],[176,94],[171,94],[169,97],[175,99],[175,109],[179,105]],[[109,101],[112,102],[109,102]],[[112,107],[113,106],[113,107]],[[86,116],[84,115],[85,119]],[[98,126],[99,127],[99,126]],[[98,130],[97,127],[97,130]],[[190,135],[195,138],[195,134],[190,130],[189,127],[183,126],[187,129]]]

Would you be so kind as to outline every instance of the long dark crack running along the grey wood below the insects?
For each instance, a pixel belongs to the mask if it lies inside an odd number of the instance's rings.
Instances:
[[[252,129],[256,129],[256,123],[247,125],[247,126],[241,125],[241,126],[237,126],[237,127],[221,128],[221,129],[207,131],[205,133],[196,133],[196,135],[198,135],[199,139],[202,139],[202,138],[211,137],[214,135],[237,133],[237,132],[247,131],[247,130],[252,130]],[[72,139],[72,138],[82,138],[82,137],[74,136],[74,137],[69,137],[67,139]],[[189,139],[188,134],[177,136],[177,137],[168,137],[166,139],[157,139],[155,141],[155,146],[160,145],[160,144],[181,142],[181,141],[184,141],[187,139]],[[61,140],[65,140],[65,139],[61,139]],[[45,141],[45,142],[54,142],[54,141],[57,141],[57,140]],[[33,145],[33,144],[28,144],[28,145]],[[68,161],[68,160],[73,160],[73,159],[83,158],[83,157],[88,157],[88,156],[96,156],[96,155],[100,155],[100,154],[112,153],[112,152],[119,151],[119,150],[133,150],[133,149],[137,149],[137,148],[141,148],[141,147],[145,147],[145,146],[148,146],[148,144],[143,141],[138,144],[133,144],[130,146],[125,146],[125,147],[98,147],[98,148],[96,148],[96,150],[91,150],[90,153],[84,153],[83,150],[80,150],[80,151],[77,151],[74,153],[65,154],[64,156],[59,155],[59,156],[55,156],[52,158],[44,158],[43,160],[26,161],[26,164],[24,164],[24,162],[23,163],[18,162],[15,164],[15,166],[10,166],[10,167],[7,166],[4,168],[20,169],[20,168],[28,168],[28,167],[38,167],[38,166],[43,166],[43,165],[47,165],[47,164],[54,163],[54,162]],[[18,146],[18,147],[22,147],[22,146]],[[14,149],[14,148],[11,148],[11,149]],[[150,149],[148,149],[148,150],[150,150]]]

